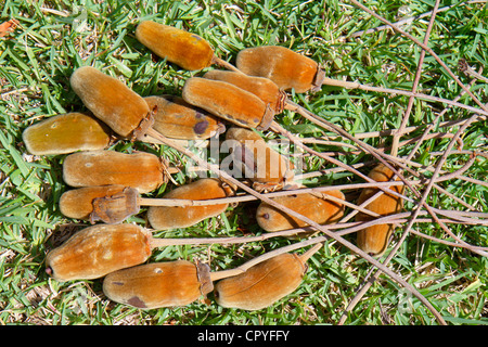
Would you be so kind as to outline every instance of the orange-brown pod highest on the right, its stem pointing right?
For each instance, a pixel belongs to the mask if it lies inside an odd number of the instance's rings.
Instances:
[[[280,46],[247,48],[239,52],[236,66],[246,75],[271,79],[283,90],[303,93],[322,86],[323,70],[311,59]]]

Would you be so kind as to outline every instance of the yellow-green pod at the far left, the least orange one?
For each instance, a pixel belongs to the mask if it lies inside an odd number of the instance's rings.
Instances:
[[[27,151],[35,155],[57,155],[77,151],[97,151],[108,146],[108,128],[95,118],[78,112],[43,119],[22,133]]]

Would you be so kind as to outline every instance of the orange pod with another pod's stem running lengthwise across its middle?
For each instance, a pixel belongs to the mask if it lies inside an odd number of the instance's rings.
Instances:
[[[165,194],[164,198],[209,200],[227,197],[231,194],[231,188],[220,180],[203,178],[174,189]],[[147,220],[156,230],[188,228],[220,215],[228,206],[229,204],[189,207],[151,206],[147,209]]]

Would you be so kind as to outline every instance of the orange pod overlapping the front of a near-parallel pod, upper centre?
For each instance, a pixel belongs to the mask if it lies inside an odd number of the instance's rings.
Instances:
[[[182,97],[188,103],[245,128],[268,129],[274,116],[274,111],[255,94],[220,80],[189,78]]]

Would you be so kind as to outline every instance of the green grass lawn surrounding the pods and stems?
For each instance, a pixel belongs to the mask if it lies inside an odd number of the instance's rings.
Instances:
[[[365,5],[395,22],[402,1],[367,1]],[[432,1],[411,1],[413,15],[431,11]],[[309,261],[310,268],[297,291],[275,305],[259,311],[242,311],[209,304],[141,311],[110,301],[102,292],[102,281],[59,283],[44,273],[47,252],[85,224],[69,220],[59,210],[59,198],[68,188],[61,168],[64,156],[31,156],[22,142],[22,131],[46,117],[85,110],[70,90],[74,69],[93,65],[123,79],[141,95],[179,94],[184,79],[201,73],[181,70],[164,60],[153,60],[150,51],[134,37],[141,20],[154,20],[185,28],[207,39],[216,53],[234,62],[247,47],[280,44],[307,54],[319,62],[331,78],[357,80],[364,85],[410,90],[421,49],[390,30],[346,38],[349,34],[382,25],[380,21],[339,1],[15,1],[3,0],[0,23],[15,18],[20,26],[0,38],[0,324],[335,324],[355,297],[372,266],[336,242],[325,246]],[[429,37],[429,47],[458,74],[460,59],[475,69],[487,66],[487,8],[484,4],[459,5],[440,12]],[[81,20],[81,21],[80,21]],[[409,33],[423,40],[429,17],[415,21]],[[459,73],[461,80],[470,78]],[[422,66],[419,90],[445,99],[461,91],[428,54]],[[474,93],[488,102],[487,85],[478,81]],[[291,94],[295,102],[333,121],[349,133],[398,128],[408,98],[361,90],[323,87],[312,94]],[[474,105],[468,97],[461,102]],[[408,126],[433,121],[441,104],[418,101]],[[442,120],[471,116],[460,108],[449,110]],[[335,136],[284,112],[278,121],[303,137]],[[446,131],[455,132],[458,128]],[[486,121],[473,124],[462,136],[464,150],[487,149]],[[407,139],[422,134],[422,129]],[[272,134],[270,134],[272,137]],[[403,140],[404,138],[402,138]],[[390,137],[364,141],[381,147]],[[398,155],[407,156],[415,143],[404,145]],[[449,139],[422,143],[413,160],[435,165]],[[314,144],[320,152],[334,146]],[[118,151],[151,151],[171,162],[184,156],[167,147],[143,143],[117,143]],[[342,154],[343,163],[371,159],[365,154]],[[444,166],[453,171],[468,155],[450,155]],[[307,170],[333,167],[320,158],[307,160]],[[470,168],[466,176],[487,181],[486,157]],[[364,170],[367,172],[367,170]],[[175,176],[179,183],[183,175]],[[332,179],[334,181],[332,182]],[[361,182],[352,174],[312,178],[308,185]],[[488,189],[462,180],[449,180],[441,187],[488,211]],[[164,189],[149,194],[160,196]],[[410,195],[412,196],[412,195]],[[465,207],[437,190],[427,204],[444,209]],[[156,236],[190,237],[261,233],[252,211],[255,203],[230,208],[226,216],[204,221],[185,230],[155,233]],[[413,204],[406,206],[407,210]],[[144,209],[129,222],[144,224]],[[442,237],[436,223],[418,223],[415,230]],[[449,224],[471,244],[487,247],[487,228]],[[400,234],[397,231],[393,244]],[[445,239],[449,239],[444,236]],[[346,236],[351,242],[354,235]],[[277,239],[233,246],[175,246],[156,249],[150,261],[172,259],[211,260],[213,268],[239,266],[246,259],[295,242]],[[209,258],[210,257],[210,258]],[[462,248],[410,235],[393,258],[390,269],[416,286],[449,324],[488,323],[488,260]],[[345,324],[437,324],[434,316],[415,297],[387,275],[382,275],[355,306]]]

